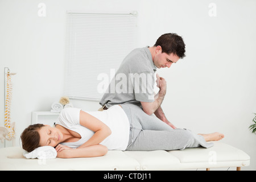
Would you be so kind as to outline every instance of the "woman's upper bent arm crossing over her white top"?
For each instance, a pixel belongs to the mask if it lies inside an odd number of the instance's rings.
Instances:
[[[110,128],[105,123],[82,110],[80,111],[80,125],[94,131],[94,135],[79,148],[99,144],[111,134]]]

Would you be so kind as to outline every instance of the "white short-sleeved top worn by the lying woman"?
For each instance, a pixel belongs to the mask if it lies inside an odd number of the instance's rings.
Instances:
[[[59,121],[57,121],[56,124],[66,129],[76,131],[81,135],[81,139],[77,142],[60,144],[77,148],[93,136],[94,132],[92,130],[80,125],[80,110],[81,109],[75,107],[67,107],[61,111]],[[100,144],[108,147],[109,150],[126,150],[129,142],[130,124],[122,107],[115,105],[108,110],[86,111],[86,113],[100,119],[100,121],[105,123],[112,131],[112,134],[105,138]]]

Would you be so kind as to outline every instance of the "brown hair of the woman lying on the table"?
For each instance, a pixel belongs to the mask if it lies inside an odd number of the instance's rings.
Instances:
[[[40,135],[38,130],[40,130],[44,125],[43,124],[35,124],[28,126],[23,133],[20,135],[20,139],[22,140],[22,148],[27,152],[32,152],[36,148],[40,147]]]

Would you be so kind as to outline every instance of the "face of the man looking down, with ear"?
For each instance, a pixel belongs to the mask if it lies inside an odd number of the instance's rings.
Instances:
[[[160,46],[156,47],[156,55],[154,57],[154,64],[156,68],[170,68],[172,63],[177,63],[180,58],[174,53],[162,53],[162,48]]]

